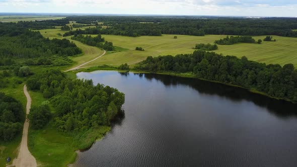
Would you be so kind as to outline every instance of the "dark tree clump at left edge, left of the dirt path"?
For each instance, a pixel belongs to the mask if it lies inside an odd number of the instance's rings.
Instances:
[[[24,120],[22,104],[0,93],[0,141],[11,141],[21,134]]]

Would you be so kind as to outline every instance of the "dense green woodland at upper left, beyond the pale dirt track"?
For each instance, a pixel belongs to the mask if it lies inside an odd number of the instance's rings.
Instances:
[[[23,61],[27,65],[66,65],[67,56],[82,53],[67,39],[49,40],[17,23],[0,23],[0,37],[0,66],[13,65],[18,59],[27,60]]]

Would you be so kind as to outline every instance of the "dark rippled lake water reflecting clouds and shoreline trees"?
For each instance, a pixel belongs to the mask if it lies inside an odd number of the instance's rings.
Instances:
[[[125,93],[124,114],[78,166],[297,166],[297,106],[158,74],[81,72]]]

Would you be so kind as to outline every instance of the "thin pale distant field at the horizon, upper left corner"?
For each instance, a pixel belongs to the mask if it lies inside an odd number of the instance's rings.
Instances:
[[[0,16],[0,22],[19,22],[19,21],[35,21],[35,20],[57,20],[65,17],[56,16]]]

